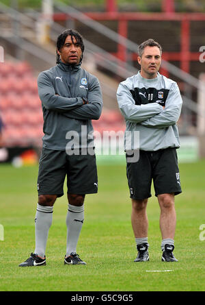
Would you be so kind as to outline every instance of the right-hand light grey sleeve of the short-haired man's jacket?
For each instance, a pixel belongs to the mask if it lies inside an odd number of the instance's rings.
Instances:
[[[141,122],[141,125],[156,128],[164,128],[174,125],[180,117],[181,108],[182,97],[178,85],[174,82],[169,90],[163,112]]]

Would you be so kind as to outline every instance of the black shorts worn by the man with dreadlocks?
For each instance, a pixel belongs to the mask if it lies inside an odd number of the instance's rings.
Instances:
[[[98,193],[95,155],[68,156],[66,151],[43,147],[39,160],[38,195],[64,195],[66,175],[68,193]]]

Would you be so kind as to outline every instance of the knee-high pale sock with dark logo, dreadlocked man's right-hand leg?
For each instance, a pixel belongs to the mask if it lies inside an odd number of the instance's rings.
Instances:
[[[84,204],[83,206],[72,206],[68,204],[68,213],[66,216],[67,225],[67,242],[66,256],[77,251],[77,242],[81,233],[84,220]]]

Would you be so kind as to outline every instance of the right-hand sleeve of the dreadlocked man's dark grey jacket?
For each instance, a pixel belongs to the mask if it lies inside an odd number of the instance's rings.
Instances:
[[[98,120],[102,112],[102,92],[100,89],[100,84],[98,79],[95,77],[92,85],[89,88],[87,94],[88,103],[64,112],[64,116],[70,119],[79,119],[79,120]]]

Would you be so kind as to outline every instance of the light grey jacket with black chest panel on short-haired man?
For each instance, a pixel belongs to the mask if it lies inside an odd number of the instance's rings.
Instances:
[[[119,84],[117,99],[126,131],[139,132],[139,144],[132,143],[131,149],[156,151],[180,147],[176,122],[182,98],[176,82],[160,73],[154,79],[146,79],[138,72]]]

